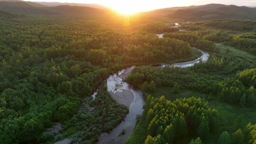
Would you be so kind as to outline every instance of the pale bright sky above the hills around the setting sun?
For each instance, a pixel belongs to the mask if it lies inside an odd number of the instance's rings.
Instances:
[[[28,0],[26,0],[28,1]],[[203,5],[209,3],[220,3],[238,6],[256,6],[256,0],[29,0],[29,1],[55,1],[72,3],[96,3],[110,6],[123,13],[147,11],[152,9]]]

